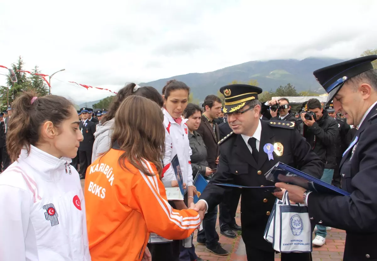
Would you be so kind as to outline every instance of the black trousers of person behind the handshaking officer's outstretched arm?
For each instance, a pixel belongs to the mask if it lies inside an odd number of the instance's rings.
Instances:
[[[236,224],[236,211],[241,196],[241,189],[230,187],[225,191],[225,197],[219,204],[219,224],[221,231],[231,230],[230,226]]]

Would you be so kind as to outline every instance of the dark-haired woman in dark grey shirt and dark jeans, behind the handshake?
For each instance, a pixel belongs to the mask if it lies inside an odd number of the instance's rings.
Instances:
[[[199,128],[202,110],[196,105],[189,103],[183,115],[189,119],[186,124],[189,128],[189,142],[192,150],[191,167],[193,178],[200,173],[205,179],[209,180],[216,170],[211,170],[207,163],[207,148],[204,145],[203,138],[196,130]],[[207,249],[216,255],[228,255],[228,252],[219,244],[219,235],[216,232],[217,206],[208,210],[204,216],[203,229],[198,232],[196,241],[205,244]],[[199,259],[198,259],[199,260]]]

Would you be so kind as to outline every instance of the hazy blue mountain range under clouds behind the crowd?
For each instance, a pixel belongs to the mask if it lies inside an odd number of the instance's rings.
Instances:
[[[336,58],[248,61],[213,72],[176,75],[139,85],[153,86],[161,91],[167,81],[176,79],[190,86],[193,96],[200,100],[208,94],[216,94],[222,86],[233,80],[247,82],[251,79],[257,80],[259,87],[264,91],[275,91],[280,85],[291,83],[297,91],[314,91],[322,94],[324,91],[314,78],[313,71],[342,61]]]

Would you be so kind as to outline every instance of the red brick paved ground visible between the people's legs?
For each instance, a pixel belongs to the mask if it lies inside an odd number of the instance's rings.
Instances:
[[[81,184],[84,188],[84,180],[81,180]],[[236,221],[237,224],[241,224],[240,206],[238,206],[237,209]],[[242,241],[242,236],[233,239],[221,235],[219,230],[219,220],[217,220],[216,230],[219,234],[219,241],[222,247],[229,251],[229,255],[218,256],[209,252],[205,249],[205,246],[196,242],[195,232],[194,245],[196,254],[205,261],[247,261],[245,244],[244,241]],[[322,247],[313,247],[313,261],[341,261],[343,259],[345,238],[346,233],[344,230],[331,229],[330,231],[327,231],[326,244]],[[280,260],[279,254],[275,255],[275,260]]]

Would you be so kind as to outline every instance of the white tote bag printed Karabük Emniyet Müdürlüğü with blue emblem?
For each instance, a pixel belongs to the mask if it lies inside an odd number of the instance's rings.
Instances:
[[[285,192],[283,204],[276,205],[273,248],[282,253],[312,252],[312,233],[308,207],[291,204]]]

